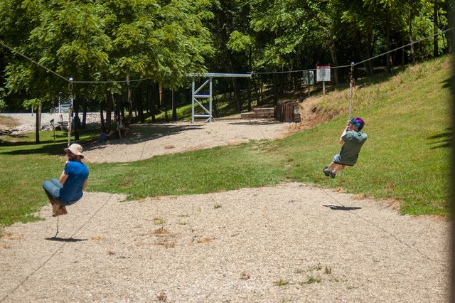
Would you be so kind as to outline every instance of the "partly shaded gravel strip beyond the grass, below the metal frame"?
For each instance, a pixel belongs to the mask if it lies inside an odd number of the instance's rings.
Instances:
[[[127,137],[85,146],[84,154],[92,163],[139,161],[160,154],[277,139],[287,134],[289,125],[267,119],[137,124],[129,126]]]

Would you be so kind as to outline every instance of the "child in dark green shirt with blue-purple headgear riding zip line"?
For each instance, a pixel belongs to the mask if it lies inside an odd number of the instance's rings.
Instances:
[[[333,156],[331,164],[323,168],[324,175],[335,178],[336,174],[346,166],[354,166],[357,163],[358,153],[368,138],[367,134],[360,132],[365,122],[360,117],[348,120],[348,126],[340,137],[340,144],[343,144],[339,154]]]

